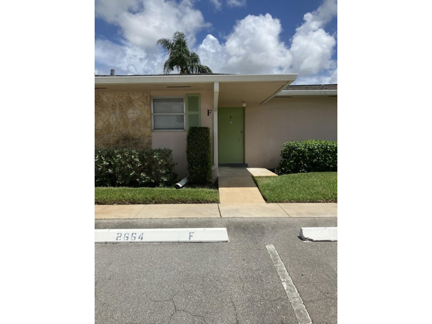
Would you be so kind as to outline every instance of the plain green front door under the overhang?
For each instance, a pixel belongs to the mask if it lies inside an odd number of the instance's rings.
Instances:
[[[244,163],[244,108],[219,108],[219,163]]]

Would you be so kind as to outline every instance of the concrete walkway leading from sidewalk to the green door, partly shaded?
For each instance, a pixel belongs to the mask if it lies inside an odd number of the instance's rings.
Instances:
[[[219,202],[221,204],[265,204],[252,176],[277,176],[263,168],[219,167]]]

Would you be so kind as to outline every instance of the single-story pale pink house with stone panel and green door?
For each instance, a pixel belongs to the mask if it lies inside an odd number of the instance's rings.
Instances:
[[[297,75],[95,76],[95,148],[170,148],[187,176],[186,135],[210,128],[218,166],[276,168],[281,143],[337,140],[337,84]]]

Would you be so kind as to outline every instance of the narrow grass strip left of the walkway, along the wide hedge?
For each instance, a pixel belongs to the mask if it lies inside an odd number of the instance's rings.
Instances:
[[[217,189],[95,187],[95,205],[219,203]]]

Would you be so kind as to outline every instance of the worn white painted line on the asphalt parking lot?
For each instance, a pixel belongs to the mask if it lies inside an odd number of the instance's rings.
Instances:
[[[303,300],[296,289],[296,286],[291,280],[290,275],[286,271],[285,265],[279,257],[278,252],[276,251],[274,245],[266,245],[265,246],[270,258],[273,261],[273,265],[276,268],[276,272],[279,275],[280,281],[285,289],[286,296],[290,300],[291,306],[294,310],[294,314],[297,317],[297,321],[299,324],[312,324],[311,317],[309,316],[308,311],[304,307]]]

